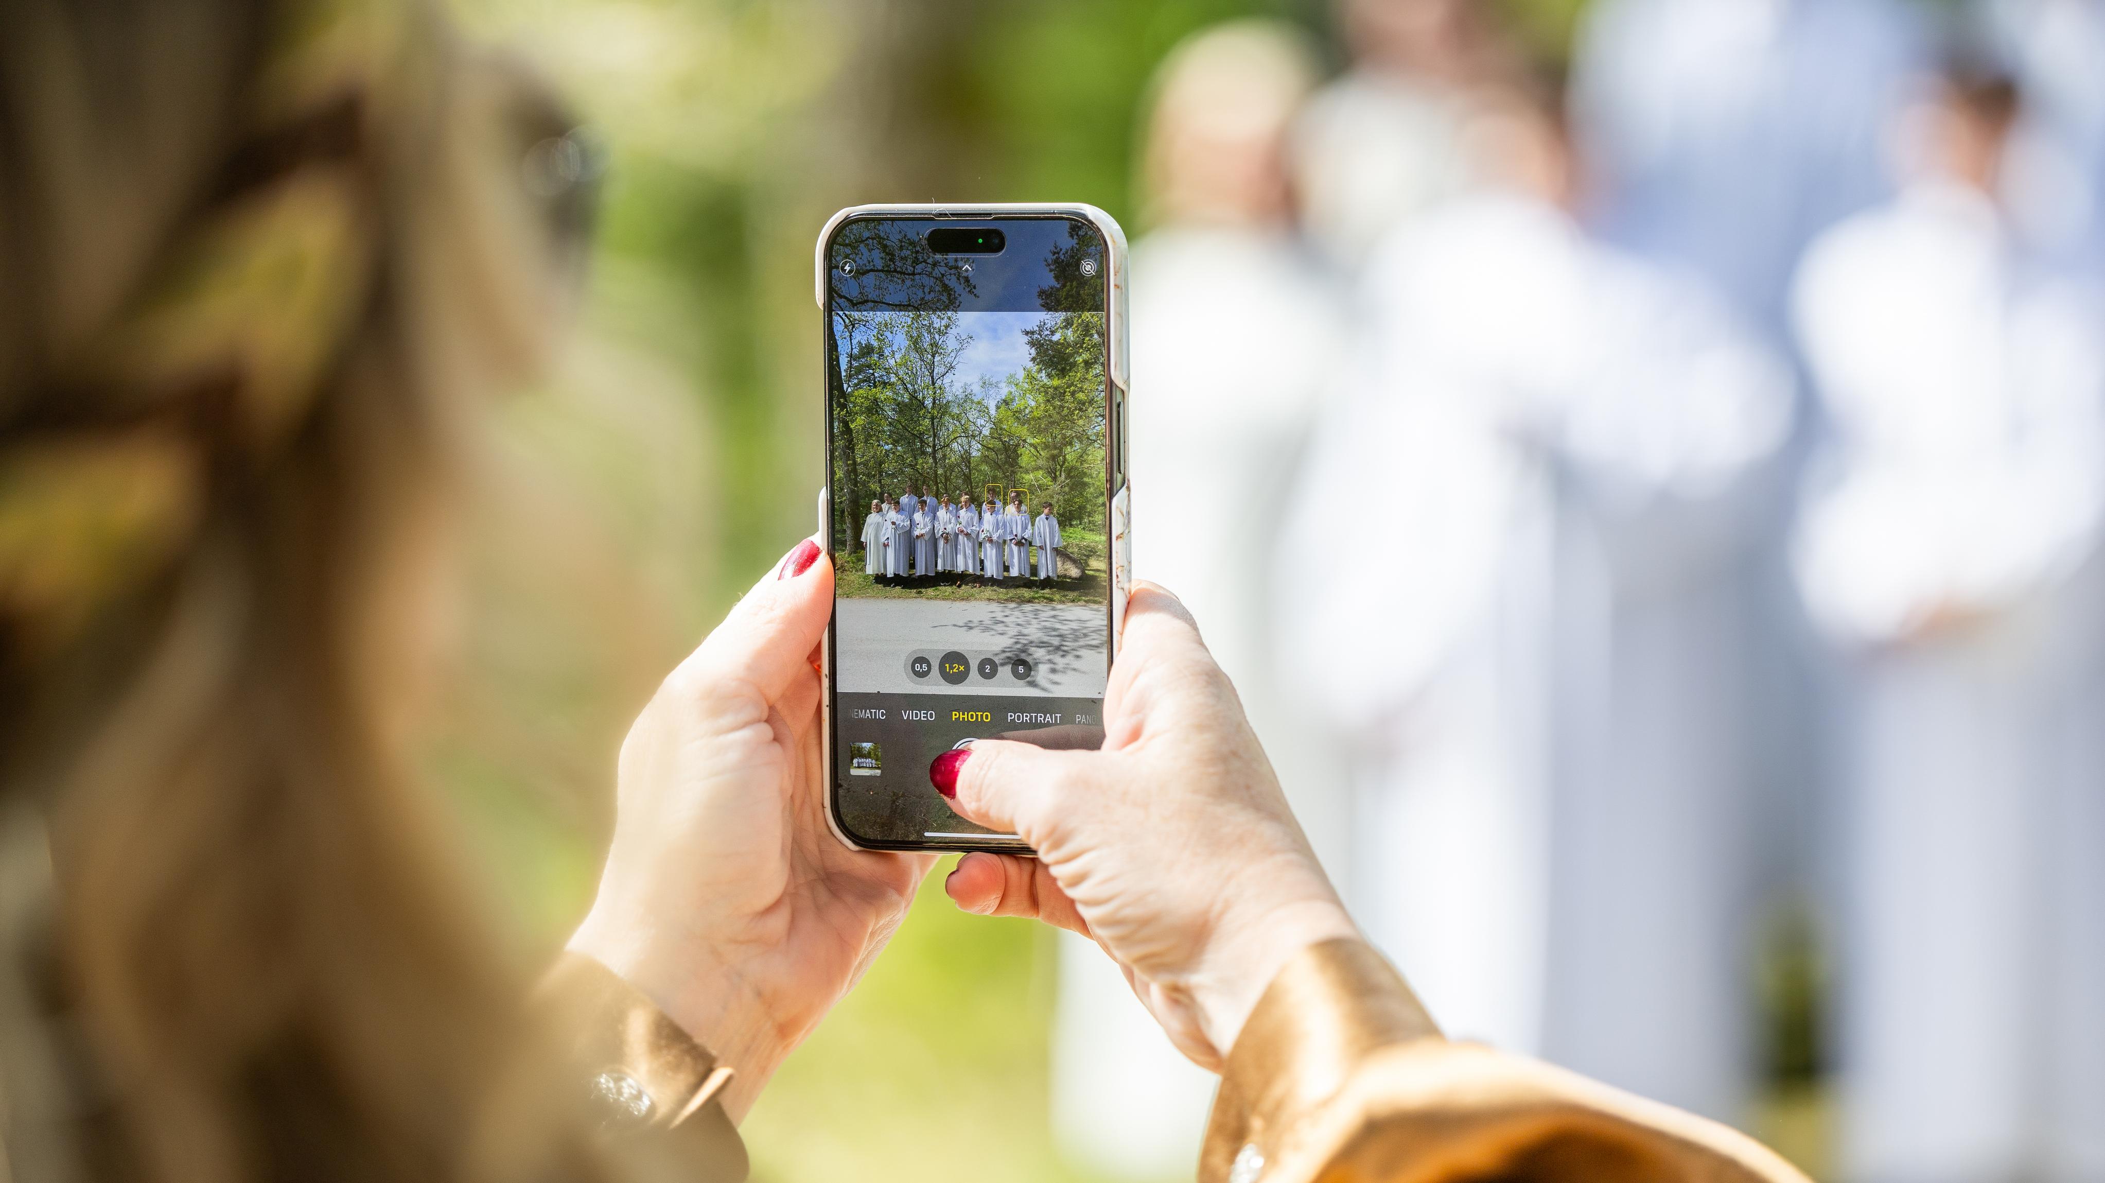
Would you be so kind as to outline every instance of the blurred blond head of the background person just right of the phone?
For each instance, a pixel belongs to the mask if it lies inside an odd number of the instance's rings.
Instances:
[[[1290,221],[1286,133],[1318,80],[1316,46],[1284,21],[1227,21],[1170,51],[1145,103],[1145,223]]]

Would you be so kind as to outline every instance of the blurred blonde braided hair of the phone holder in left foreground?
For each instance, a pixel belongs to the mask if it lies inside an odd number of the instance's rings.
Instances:
[[[566,299],[568,133],[419,0],[0,6],[17,1177],[589,1172],[404,756],[463,419]]]

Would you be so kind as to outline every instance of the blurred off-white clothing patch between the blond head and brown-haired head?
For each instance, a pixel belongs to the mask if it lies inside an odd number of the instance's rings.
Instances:
[[[1469,168],[1459,103],[1408,78],[1356,69],[1295,122],[1290,168],[1301,223],[1351,276],[1406,217],[1461,192]]]

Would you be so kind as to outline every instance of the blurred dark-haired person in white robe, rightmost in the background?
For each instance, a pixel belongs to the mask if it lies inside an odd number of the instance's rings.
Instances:
[[[1838,1172],[2105,1179],[2105,299],[2000,204],[1947,74],[1899,198],[1806,255],[1836,423],[1796,570],[1846,659]]]

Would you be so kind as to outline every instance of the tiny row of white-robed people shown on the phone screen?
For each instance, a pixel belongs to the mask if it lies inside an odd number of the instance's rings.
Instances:
[[[1031,518],[1023,497],[1008,505],[964,495],[928,497],[911,486],[869,503],[863,518],[863,573],[878,579],[1059,579],[1059,516],[1046,501]]]

